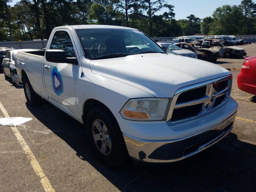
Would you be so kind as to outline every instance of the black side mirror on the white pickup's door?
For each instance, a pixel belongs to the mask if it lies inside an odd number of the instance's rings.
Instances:
[[[75,57],[67,57],[66,52],[61,49],[46,50],[45,58],[46,61],[53,63],[77,64],[77,60]]]

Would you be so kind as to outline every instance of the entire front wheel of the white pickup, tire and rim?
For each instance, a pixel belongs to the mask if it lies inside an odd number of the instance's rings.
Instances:
[[[107,166],[118,166],[128,158],[122,132],[113,114],[104,106],[90,110],[86,120],[90,150]]]

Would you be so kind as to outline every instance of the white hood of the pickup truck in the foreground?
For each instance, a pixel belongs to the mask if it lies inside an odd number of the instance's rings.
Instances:
[[[230,74],[210,62],[161,53],[92,60],[90,68],[94,74],[129,84],[159,98],[170,98],[183,86]]]

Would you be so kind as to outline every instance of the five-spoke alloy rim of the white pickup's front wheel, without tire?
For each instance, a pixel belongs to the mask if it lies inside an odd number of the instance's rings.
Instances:
[[[98,151],[103,155],[111,152],[112,142],[107,126],[99,119],[92,123],[92,138]]]

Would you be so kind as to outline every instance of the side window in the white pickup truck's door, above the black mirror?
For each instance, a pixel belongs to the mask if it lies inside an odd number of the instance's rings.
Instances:
[[[76,57],[74,52],[74,46],[70,39],[68,32],[56,31],[53,38],[50,49],[61,49],[64,50],[67,56]]]

